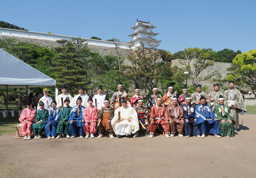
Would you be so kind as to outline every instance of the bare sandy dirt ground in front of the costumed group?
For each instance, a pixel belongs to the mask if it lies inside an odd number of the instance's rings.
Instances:
[[[3,177],[255,177],[256,115],[233,138],[94,138],[23,141],[0,136]],[[240,119],[241,123],[241,119]]]

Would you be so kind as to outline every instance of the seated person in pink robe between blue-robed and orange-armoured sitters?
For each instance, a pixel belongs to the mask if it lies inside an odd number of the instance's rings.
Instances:
[[[94,138],[94,134],[97,133],[96,123],[97,123],[97,115],[98,109],[96,106],[93,106],[93,99],[89,96],[88,106],[83,111],[83,119],[86,123],[83,126],[83,132],[86,133],[86,137],[89,138],[91,134],[91,138]]]

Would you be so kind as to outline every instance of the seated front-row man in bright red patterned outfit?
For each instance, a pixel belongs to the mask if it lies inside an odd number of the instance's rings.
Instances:
[[[167,109],[162,105],[162,97],[157,96],[155,106],[152,107],[150,113],[150,136],[148,138],[153,138],[157,129],[157,125],[161,124],[164,130],[165,137],[170,138],[169,136],[169,117],[167,114]]]

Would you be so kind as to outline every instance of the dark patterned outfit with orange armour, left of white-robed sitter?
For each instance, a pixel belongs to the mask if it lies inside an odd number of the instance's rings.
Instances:
[[[114,108],[113,107],[109,107],[109,108],[106,108],[105,106],[101,108],[101,110],[98,112],[98,121],[101,120],[101,124],[98,126],[97,130],[98,130],[98,133],[99,134],[103,134],[103,132],[106,130],[108,133],[110,134],[114,134],[114,131],[113,131],[113,128],[112,128],[112,125],[111,123],[108,123],[109,124],[109,129],[106,129],[106,127],[104,126],[106,123],[106,119],[105,119],[105,114],[104,113],[110,113],[110,114],[107,114],[109,116],[109,120],[112,120],[113,117],[114,117]],[[103,119],[104,117],[104,119]],[[103,121],[103,120],[105,121]],[[103,122],[103,124],[102,124]],[[107,123],[106,123],[107,124]]]

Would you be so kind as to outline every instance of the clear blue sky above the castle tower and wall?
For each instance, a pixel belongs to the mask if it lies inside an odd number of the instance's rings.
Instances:
[[[34,32],[131,41],[136,19],[150,21],[174,54],[188,47],[256,48],[256,1],[13,1],[0,0],[0,20]]]

